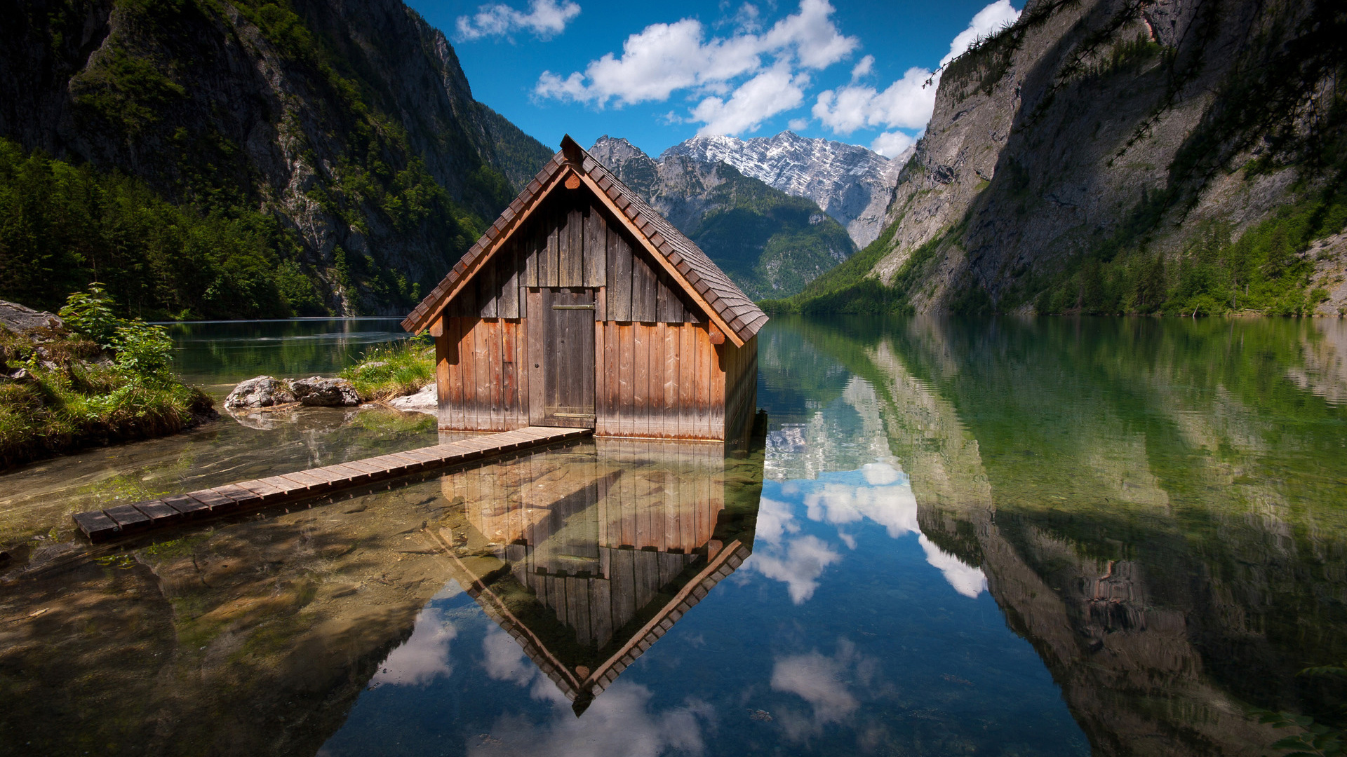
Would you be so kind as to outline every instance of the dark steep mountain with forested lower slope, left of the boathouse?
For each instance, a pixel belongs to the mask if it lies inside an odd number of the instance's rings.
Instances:
[[[0,296],[404,312],[552,151],[399,0],[0,0]]]

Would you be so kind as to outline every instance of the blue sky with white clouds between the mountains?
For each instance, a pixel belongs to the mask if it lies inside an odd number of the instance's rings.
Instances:
[[[787,128],[896,155],[929,119],[932,71],[1018,15],[1012,0],[408,4],[473,96],[548,147],[610,135],[651,155]]]

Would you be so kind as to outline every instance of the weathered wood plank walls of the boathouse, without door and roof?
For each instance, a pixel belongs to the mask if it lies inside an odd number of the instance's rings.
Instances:
[[[440,428],[521,428],[531,407],[539,422],[529,369],[543,345],[529,343],[527,322],[547,288],[595,290],[595,434],[726,439],[752,419],[756,338],[713,345],[706,315],[606,213],[583,193],[548,198],[449,303]]]

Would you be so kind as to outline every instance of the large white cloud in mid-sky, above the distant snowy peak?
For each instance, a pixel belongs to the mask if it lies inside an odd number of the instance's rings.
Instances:
[[[859,46],[838,31],[834,11],[827,0],[801,0],[797,12],[757,34],[757,7],[745,4],[735,16],[740,31],[710,39],[696,19],[651,24],[622,43],[621,57],[609,53],[564,77],[543,71],[533,93],[605,108],[690,90],[710,94],[691,112],[704,124],[699,133],[753,131],[804,101],[808,70],[831,66]]]

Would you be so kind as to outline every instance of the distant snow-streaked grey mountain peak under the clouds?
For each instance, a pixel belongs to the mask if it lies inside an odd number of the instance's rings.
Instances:
[[[898,170],[911,152],[889,160],[854,144],[781,132],[746,140],[698,136],[665,150],[660,159],[674,156],[726,163],[785,194],[807,197],[865,246],[880,236]]]

